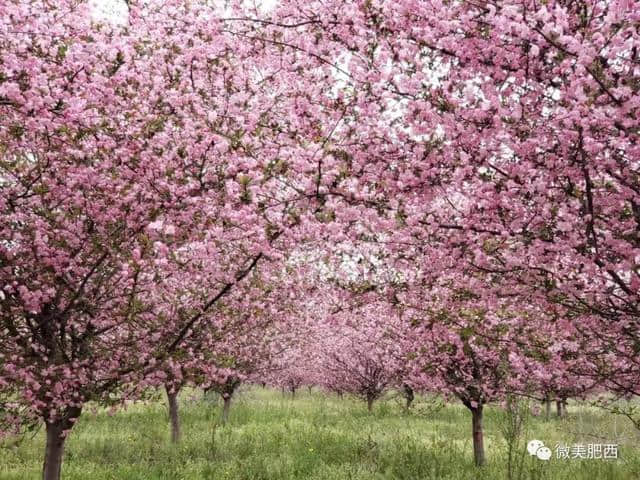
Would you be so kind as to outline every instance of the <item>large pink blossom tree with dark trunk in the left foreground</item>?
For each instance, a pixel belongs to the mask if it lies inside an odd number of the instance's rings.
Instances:
[[[153,385],[156,364],[278,255],[306,205],[312,156],[294,153],[296,135],[317,129],[296,121],[292,84],[276,85],[278,48],[238,42],[212,7],[131,4],[111,26],[83,2],[0,10],[3,431],[44,421],[56,480],[83,405]],[[211,290],[166,315],[159,276],[194,271]]]

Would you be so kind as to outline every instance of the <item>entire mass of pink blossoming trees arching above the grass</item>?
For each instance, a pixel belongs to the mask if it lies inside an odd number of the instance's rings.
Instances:
[[[150,388],[437,391],[478,465],[487,402],[640,393],[635,1],[91,3],[0,0],[0,432],[44,480]]]

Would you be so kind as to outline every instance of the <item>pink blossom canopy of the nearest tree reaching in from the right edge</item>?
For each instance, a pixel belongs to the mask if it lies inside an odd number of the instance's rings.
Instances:
[[[632,2],[286,2],[282,18],[296,10],[333,50],[305,47],[345,52],[361,112],[363,142],[335,156],[354,175],[327,186],[349,205],[337,217],[359,212],[360,240],[366,220],[399,258],[422,249],[430,276],[488,275],[482,302],[520,286],[521,310],[538,302],[540,326],[565,317],[590,345],[581,375],[637,394]]]

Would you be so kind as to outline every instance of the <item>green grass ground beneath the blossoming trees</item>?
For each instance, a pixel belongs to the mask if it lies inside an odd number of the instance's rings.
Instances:
[[[64,480],[341,480],[507,479],[498,407],[485,413],[488,464],[472,464],[471,420],[464,407],[433,411],[426,401],[405,413],[387,398],[368,413],[363,403],[320,392],[295,399],[278,391],[240,392],[229,423],[215,426],[220,405],[183,395],[183,441],[168,441],[161,398],[115,415],[86,413],[67,443]],[[524,456],[518,480],[640,479],[640,432],[622,417],[571,405],[566,419],[531,417],[526,439],[542,440],[550,461]],[[618,443],[617,460],[556,459],[554,446]],[[40,478],[43,434],[0,447],[1,480]]]

